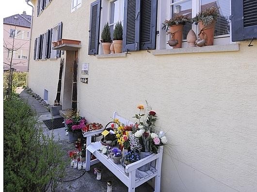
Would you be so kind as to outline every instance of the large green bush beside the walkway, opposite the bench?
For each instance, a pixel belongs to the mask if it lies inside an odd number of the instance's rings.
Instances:
[[[18,97],[4,100],[4,191],[54,191],[64,175],[64,152],[35,128],[36,117]],[[49,190],[48,189],[48,190]]]

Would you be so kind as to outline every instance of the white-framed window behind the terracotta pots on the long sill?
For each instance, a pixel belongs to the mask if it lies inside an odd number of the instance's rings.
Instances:
[[[170,19],[173,16],[184,15],[189,18],[193,18],[197,13],[210,7],[217,7],[218,19],[215,24],[214,31],[214,43],[216,44],[228,44],[230,36],[230,0],[167,0],[168,2],[168,14],[166,19]],[[187,23],[183,28],[183,42],[186,42],[187,34],[193,29],[196,36],[199,32],[198,25]],[[224,38],[225,39],[221,39]],[[166,35],[166,42],[170,39],[170,35]],[[186,43],[184,44],[186,46]],[[182,44],[182,48],[184,47]],[[166,46],[166,48],[171,48]]]

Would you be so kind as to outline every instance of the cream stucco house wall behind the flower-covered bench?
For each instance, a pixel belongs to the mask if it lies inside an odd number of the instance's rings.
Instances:
[[[70,3],[61,2],[51,1],[34,17],[32,39],[62,21],[63,38],[81,41],[78,80],[89,78],[78,83],[82,116],[105,125],[116,111],[133,120],[146,99],[170,144],[164,147],[161,192],[257,191],[257,40],[253,47],[241,42],[233,52],[154,56],[145,50],[99,59],[87,54],[93,0],[73,13]],[[48,89],[50,102],[59,62],[30,64],[29,86],[40,95]],[[88,76],[81,75],[82,63],[89,63]]]

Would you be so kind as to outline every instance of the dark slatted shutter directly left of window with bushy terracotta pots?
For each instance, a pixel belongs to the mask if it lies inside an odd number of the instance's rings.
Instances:
[[[157,0],[141,1],[140,49],[156,47]]]

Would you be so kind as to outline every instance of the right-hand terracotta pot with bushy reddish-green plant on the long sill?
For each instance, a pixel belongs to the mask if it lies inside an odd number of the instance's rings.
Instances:
[[[193,18],[193,22],[199,26],[200,39],[198,41],[205,40],[206,46],[213,45],[214,28],[219,15],[218,9],[219,8],[217,7],[207,8],[196,14],[196,16]]]

